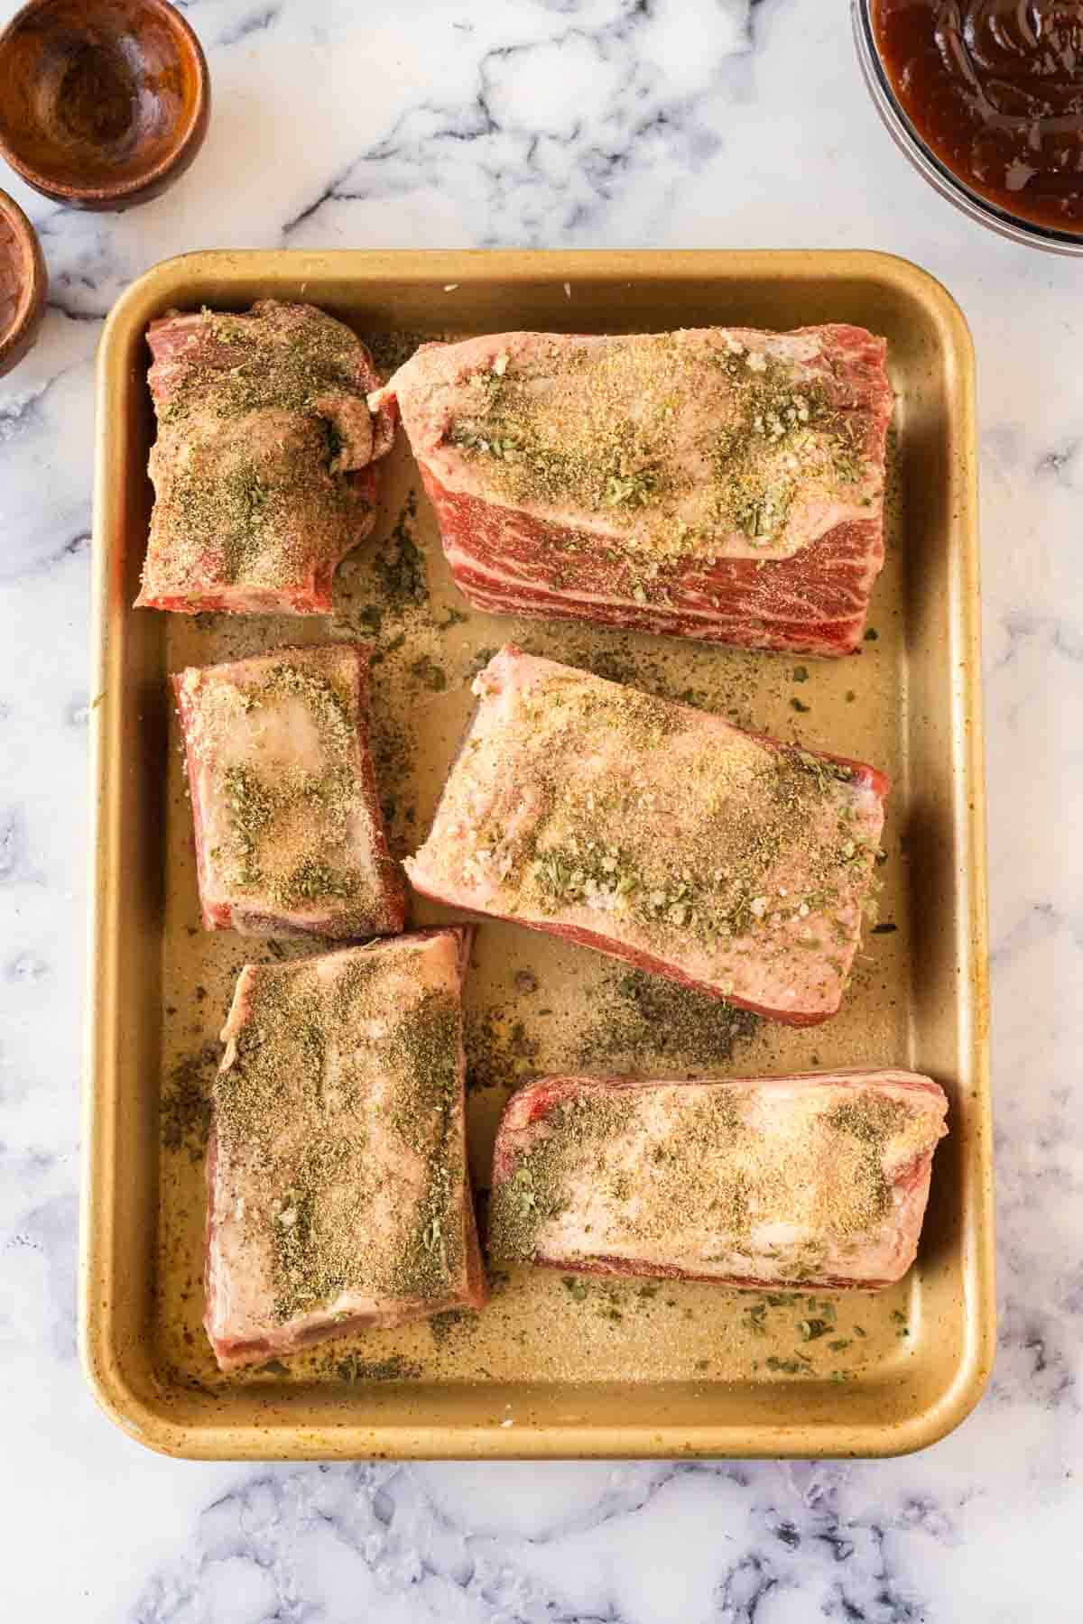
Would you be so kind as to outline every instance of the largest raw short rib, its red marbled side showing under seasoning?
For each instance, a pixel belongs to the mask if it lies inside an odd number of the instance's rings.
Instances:
[[[463,594],[846,654],[883,564],[885,343],[859,326],[425,344],[396,401]]]

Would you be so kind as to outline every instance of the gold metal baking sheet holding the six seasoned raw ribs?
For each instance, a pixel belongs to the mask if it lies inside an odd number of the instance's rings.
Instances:
[[[887,331],[898,391],[888,559],[861,654],[750,654],[476,612],[450,581],[403,435],[383,464],[373,538],[339,570],[331,619],[130,611],[153,432],[146,318],[170,304],[244,307],[266,294],[334,310],[386,365],[422,331],[745,320],[784,328],[831,318]],[[125,296],[101,369],[109,414],[96,526],[97,786],[99,880],[109,883],[94,939],[89,1111],[97,1142],[84,1346],[112,1413],[172,1452],[281,1457],[883,1453],[960,1419],[989,1363],[992,1231],[969,346],[942,289],[877,255],[196,255],[157,268]],[[929,1070],[948,1090],[951,1138],[937,1153],[922,1252],[906,1281],[877,1294],[768,1299],[521,1268],[497,1276],[479,1315],[440,1315],[250,1372],[218,1372],[200,1324],[205,1090],[218,1030],[242,963],[312,947],[201,931],[164,677],[185,664],[328,637],[377,645],[373,744],[396,854],[424,838],[472,706],[472,674],[507,640],[888,771],[880,922],[865,935],[838,1017],[810,1030],[755,1021],[487,921],[466,996],[468,1114],[484,1216],[500,1109],[510,1088],[539,1072]],[[110,869],[110,835],[115,849],[141,859],[130,887]],[[414,924],[448,918],[412,900]],[[110,979],[109,965],[136,921],[146,973],[125,994],[122,966]],[[138,1197],[122,1200],[122,1153],[104,1143],[101,1127],[125,1086],[115,1047],[125,1026],[138,1028],[145,1064],[128,1082],[138,1098],[127,1099],[133,1121],[123,1127],[141,1181]],[[125,1231],[133,1220],[138,1241]],[[106,1348],[115,1358],[109,1379]]]

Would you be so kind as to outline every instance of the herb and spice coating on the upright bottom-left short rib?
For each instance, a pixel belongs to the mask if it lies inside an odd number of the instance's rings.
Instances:
[[[461,1015],[450,994],[411,981],[416,952],[380,944],[333,978],[309,960],[248,971],[232,1064],[214,1083],[216,1132],[219,1164],[247,1169],[240,1221],[270,1254],[279,1324],[344,1291],[432,1301],[458,1289]],[[391,1213],[388,1158],[419,1169]]]

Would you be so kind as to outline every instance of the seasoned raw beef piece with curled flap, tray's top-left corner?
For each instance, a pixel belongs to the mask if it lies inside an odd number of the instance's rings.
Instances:
[[[393,412],[357,336],[312,305],[167,315],[148,331],[157,440],[140,606],[326,614],[375,518]]]

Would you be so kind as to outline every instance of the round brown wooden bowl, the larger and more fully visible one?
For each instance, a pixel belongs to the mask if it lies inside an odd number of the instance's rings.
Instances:
[[[157,197],[209,112],[203,50],[167,0],[31,0],[0,34],[0,154],[57,203]]]

